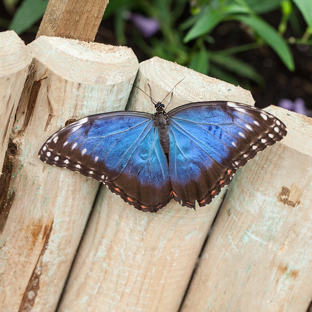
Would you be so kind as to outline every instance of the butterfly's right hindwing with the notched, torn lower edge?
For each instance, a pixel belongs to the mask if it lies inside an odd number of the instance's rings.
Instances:
[[[209,156],[181,129],[170,127],[170,178],[173,195],[182,206],[205,206],[227,185],[235,170]]]

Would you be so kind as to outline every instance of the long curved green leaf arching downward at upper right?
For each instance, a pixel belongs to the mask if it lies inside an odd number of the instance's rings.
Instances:
[[[254,32],[261,37],[279,56],[287,68],[294,70],[292,53],[284,38],[269,25],[266,21],[255,16],[234,16],[234,19],[239,20],[250,26]]]

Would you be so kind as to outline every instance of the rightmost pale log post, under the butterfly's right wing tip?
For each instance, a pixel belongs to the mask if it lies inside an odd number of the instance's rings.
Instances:
[[[287,136],[239,169],[182,312],[306,312],[312,298],[312,119],[270,106]]]

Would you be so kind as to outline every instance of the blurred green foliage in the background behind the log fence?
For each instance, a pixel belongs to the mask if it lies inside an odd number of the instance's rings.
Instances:
[[[11,7],[12,1],[3,0]],[[47,2],[23,0],[9,28],[18,34],[26,31],[43,16]],[[252,66],[235,56],[237,53],[268,45],[293,71],[290,44],[312,45],[312,0],[111,0],[103,20],[114,18],[119,44],[128,43],[126,17],[129,12],[159,21],[159,32],[148,39],[133,27],[131,38],[147,56],[175,61],[236,85],[241,84],[240,78],[263,83]],[[278,13],[280,20],[276,21],[276,28],[261,16],[270,12]],[[302,19],[306,23],[304,29]],[[215,50],[212,32],[216,26],[229,21],[239,22],[240,31],[248,34],[251,42]],[[285,38],[287,28],[292,29],[296,38]]]

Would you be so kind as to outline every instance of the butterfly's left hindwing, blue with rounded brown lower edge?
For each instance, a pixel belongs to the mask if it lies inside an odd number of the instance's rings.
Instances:
[[[169,166],[155,127],[137,145],[120,175],[106,182],[114,193],[135,208],[156,212],[172,199]]]

